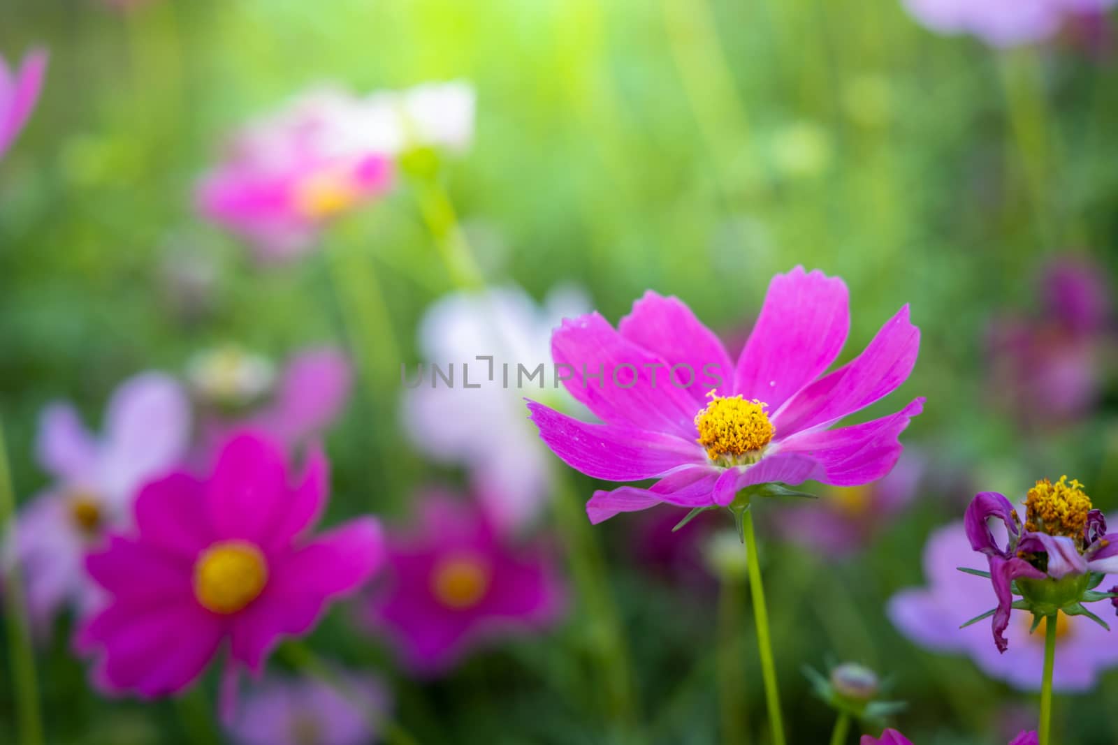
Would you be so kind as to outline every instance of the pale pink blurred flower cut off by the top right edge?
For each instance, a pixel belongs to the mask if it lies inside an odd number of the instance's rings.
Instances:
[[[1116,0],[904,0],[922,25],[944,34],[972,34],[995,47],[1042,41],[1065,20],[1105,10]]]

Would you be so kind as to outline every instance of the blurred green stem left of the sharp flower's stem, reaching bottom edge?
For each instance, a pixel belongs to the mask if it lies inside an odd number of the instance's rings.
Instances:
[[[570,481],[557,477],[556,484],[551,499],[556,528],[567,548],[578,596],[586,603],[587,615],[595,625],[591,643],[603,668],[609,715],[620,726],[623,738],[632,742],[634,738],[626,736],[637,728],[636,695],[620,618],[604,579],[601,548]]]

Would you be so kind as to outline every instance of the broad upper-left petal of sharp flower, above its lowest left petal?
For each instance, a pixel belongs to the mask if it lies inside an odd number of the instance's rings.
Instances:
[[[666,382],[666,363],[625,338],[597,313],[565,319],[551,336],[551,356],[575,399],[609,424],[694,437],[691,394]],[[653,365],[660,365],[655,385]],[[584,379],[585,372],[585,379]],[[601,373],[600,379],[590,375]]]

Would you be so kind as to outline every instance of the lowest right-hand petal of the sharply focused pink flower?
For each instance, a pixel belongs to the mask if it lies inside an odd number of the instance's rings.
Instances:
[[[882,478],[893,469],[903,451],[900,433],[912,417],[923,411],[923,399],[913,400],[897,413],[863,424],[830,430],[809,430],[783,440],[780,452],[802,452],[824,469],[818,480],[835,486],[858,486]]]

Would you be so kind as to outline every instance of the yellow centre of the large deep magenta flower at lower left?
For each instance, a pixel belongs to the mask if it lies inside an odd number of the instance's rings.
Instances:
[[[244,541],[222,541],[195,563],[195,595],[215,613],[236,613],[256,600],[268,581],[260,550]]]

